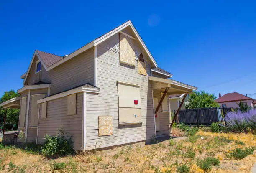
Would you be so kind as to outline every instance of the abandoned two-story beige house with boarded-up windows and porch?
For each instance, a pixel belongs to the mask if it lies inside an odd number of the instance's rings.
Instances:
[[[170,134],[168,96],[197,89],[171,77],[128,21],[67,56],[36,50],[20,97],[0,106],[20,109],[18,142],[59,128],[75,150],[144,142]]]

